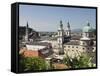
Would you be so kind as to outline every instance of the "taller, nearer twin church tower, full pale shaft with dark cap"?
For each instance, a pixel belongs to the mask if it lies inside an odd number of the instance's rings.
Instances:
[[[63,42],[64,42],[64,30],[63,30],[63,24],[62,21],[60,21],[60,27],[58,28],[58,50],[59,54],[64,54],[64,47],[63,47]]]

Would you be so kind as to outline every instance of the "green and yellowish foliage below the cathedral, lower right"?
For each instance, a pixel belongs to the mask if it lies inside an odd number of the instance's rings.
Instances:
[[[74,58],[70,58],[69,56],[66,56],[64,58],[64,63],[67,66],[69,66],[69,68],[94,67],[94,64],[91,61],[91,57],[86,53]]]

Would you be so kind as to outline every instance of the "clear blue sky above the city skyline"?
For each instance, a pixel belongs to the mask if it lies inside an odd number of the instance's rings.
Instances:
[[[57,31],[62,20],[63,28],[82,29],[90,23],[96,28],[96,10],[90,8],[53,7],[37,5],[19,6],[19,26],[26,26],[36,31]]]

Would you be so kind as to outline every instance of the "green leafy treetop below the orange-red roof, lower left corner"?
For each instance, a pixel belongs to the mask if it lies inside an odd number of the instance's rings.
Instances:
[[[40,57],[23,57],[20,59],[20,71],[46,70],[47,64]]]

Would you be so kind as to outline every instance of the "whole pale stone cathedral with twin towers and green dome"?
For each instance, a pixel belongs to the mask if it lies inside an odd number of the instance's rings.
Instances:
[[[81,55],[81,53],[87,53],[95,61],[96,52],[96,40],[94,38],[93,28],[90,23],[87,23],[82,30],[82,36],[78,39],[73,39],[71,36],[71,29],[69,22],[67,23],[67,30],[63,29],[63,23],[60,21],[60,27],[58,28],[58,54],[67,54],[70,57]]]

